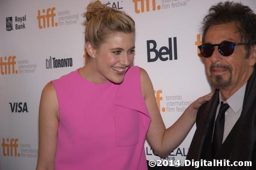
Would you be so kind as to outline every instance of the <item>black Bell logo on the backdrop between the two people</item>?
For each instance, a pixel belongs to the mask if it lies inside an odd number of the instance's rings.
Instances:
[[[156,61],[158,58],[161,61],[167,61],[169,60],[173,60],[173,52],[174,52],[174,59],[178,59],[177,57],[177,37],[173,37],[173,45],[172,45],[172,38],[168,38],[168,42],[169,45],[168,47],[163,46],[159,49],[159,51],[156,49],[157,47],[157,43],[154,40],[147,40],[147,62],[154,62]],[[153,45],[153,47],[151,48],[151,44]],[[173,46],[173,50],[172,50],[172,46]],[[153,58],[151,58],[151,52],[153,52],[155,54],[155,56]],[[169,58],[166,57],[162,57],[162,55],[169,55]]]

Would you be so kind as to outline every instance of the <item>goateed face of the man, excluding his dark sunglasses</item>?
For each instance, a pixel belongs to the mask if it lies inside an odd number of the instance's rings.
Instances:
[[[235,22],[211,26],[205,35],[204,43],[220,44],[223,41],[241,42],[240,33]],[[251,56],[245,59],[245,46],[237,45],[233,54],[223,56],[218,52],[218,46],[211,57],[204,59],[207,77],[216,89],[237,91],[248,80],[253,67]]]

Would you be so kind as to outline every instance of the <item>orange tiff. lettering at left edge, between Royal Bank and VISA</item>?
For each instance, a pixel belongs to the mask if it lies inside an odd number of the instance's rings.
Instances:
[[[15,70],[16,56],[0,57],[0,72],[4,74],[18,74],[18,70]]]

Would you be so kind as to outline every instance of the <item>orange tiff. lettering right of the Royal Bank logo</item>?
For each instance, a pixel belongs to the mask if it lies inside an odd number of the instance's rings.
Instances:
[[[55,7],[48,8],[46,10],[46,14],[45,14],[45,9],[43,9],[42,10],[42,15],[41,15],[41,11],[38,10],[37,19],[38,19],[38,27],[39,27],[39,29],[46,28],[46,25],[47,25],[47,28],[49,28],[50,27],[50,23],[51,23],[51,27],[58,26],[57,22],[54,23],[54,17],[56,16],[56,13],[54,13],[55,9],[56,9]],[[51,22],[50,22],[50,19],[51,19]]]

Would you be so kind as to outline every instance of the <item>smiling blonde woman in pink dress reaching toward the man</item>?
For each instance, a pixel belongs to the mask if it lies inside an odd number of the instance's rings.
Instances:
[[[85,17],[85,66],[49,82],[41,94],[37,170],[147,170],[145,138],[167,156],[209,96],[166,129],[147,72],[132,66],[134,20],[98,0]]]

